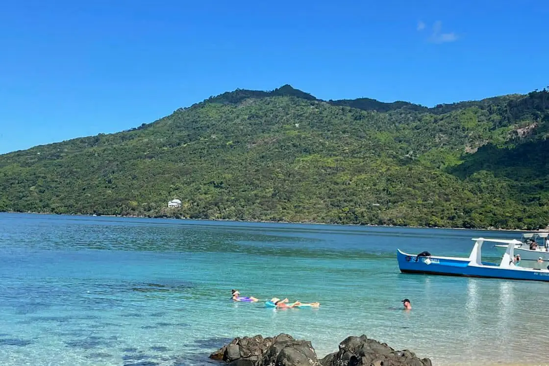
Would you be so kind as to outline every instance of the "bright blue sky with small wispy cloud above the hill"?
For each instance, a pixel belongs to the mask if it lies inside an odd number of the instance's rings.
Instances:
[[[549,2],[53,0],[0,11],[0,154],[236,88],[427,106],[549,85]]]

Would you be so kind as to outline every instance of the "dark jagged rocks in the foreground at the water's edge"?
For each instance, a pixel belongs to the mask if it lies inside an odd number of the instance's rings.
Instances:
[[[288,334],[235,338],[210,358],[231,366],[432,366],[429,358],[419,358],[408,350],[395,351],[365,335],[347,337],[339,344],[338,352],[321,361],[311,342]]]

